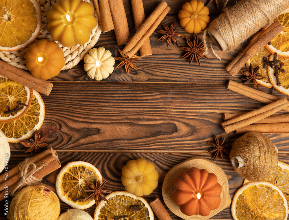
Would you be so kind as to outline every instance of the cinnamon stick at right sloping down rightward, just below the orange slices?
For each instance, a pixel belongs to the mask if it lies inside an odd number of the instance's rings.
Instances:
[[[255,99],[257,101],[260,101],[264,104],[270,104],[273,101],[277,101],[281,98],[274,96],[274,95],[270,95],[267,93],[264,93],[262,91],[259,91],[257,89],[253,89],[251,87],[245,86],[243,84],[240,84],[238,82],[235,82],[233,80],[229,80],[229,84],[227,89],[234,91],[236,93],[239,93],[241,95],[247,96],[251,99]],[[289,108],[284,108],[283,109],[286,112],[289,112]]]

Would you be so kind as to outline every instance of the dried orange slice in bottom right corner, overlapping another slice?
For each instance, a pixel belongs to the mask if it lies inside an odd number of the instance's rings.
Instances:
[[[231,214],[235,220],[283,220],[288,216],[288,204],[275,184],[250,182],[235,193]]]

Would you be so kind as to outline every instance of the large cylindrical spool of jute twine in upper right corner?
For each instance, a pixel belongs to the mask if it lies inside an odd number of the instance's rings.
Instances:
[[[213,20],[208,33],[223,51],[234,50],[288,8],[288,0],[242,0]]]

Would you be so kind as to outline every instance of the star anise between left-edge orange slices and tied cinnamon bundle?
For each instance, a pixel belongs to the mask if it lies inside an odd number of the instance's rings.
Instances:
[[[29,152],[33,152],[33,151],[34,151],[34,153],[38,153],[40,147],[42,148],[42,147],[47,146],[48,144],[44,143],[46,136],[47,136],[47,134],[40,136],[38,130],[36,129],[36,131],[33,133],[31,138],[26,139],[23,142],[20,142],[26,148],[28,148],[25,151],[25,153],[29,153]]]

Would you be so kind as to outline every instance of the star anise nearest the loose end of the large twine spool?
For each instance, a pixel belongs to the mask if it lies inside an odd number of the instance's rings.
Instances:
[[[201,65],[200,57],[203,57],[205,59],[209,59],[208,57],[206,57],[206,55],[203,55],[203,52],[205,50],[204,43],[203,42],[198,43],[198,35],[195,36],[194,43],[192,43],[188,37],[186,37],[186,38],[187,38],[187,43],[189,46],[188,47],[180,47],[180,49],[185,50],[185,51],[189,51],[189,52],[187,52],[182,59],[191,56],[189,64],[191,64],[192,60],[196,59],[197,63],[200,66]]]

